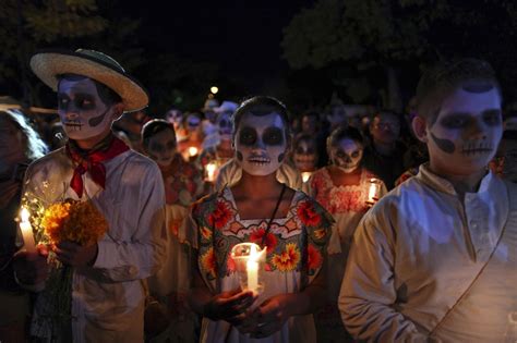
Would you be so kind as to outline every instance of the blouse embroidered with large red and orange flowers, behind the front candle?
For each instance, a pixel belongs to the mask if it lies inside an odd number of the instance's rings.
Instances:
[[[268,219],[242,220],[228,187],[196,203],[192,218],[197,232],[197,264],[208,289],[220,293],[238,287],[231,248],[242,242],[261,244]],[[267,246],[265,287],[257,304],[280,293],[300,292],[317,275],[326,258],[332,223],[332,217],[322,206],[304,193],[296,192],[287,216],[273,220],[264,240]],[[206,342],[217,342],[225,336],[231,342],[250,341],[226,321],[205,320],[202,338]],[[314,342],[312,316],[291,317],[280,331],[258,341],[286,339]]]

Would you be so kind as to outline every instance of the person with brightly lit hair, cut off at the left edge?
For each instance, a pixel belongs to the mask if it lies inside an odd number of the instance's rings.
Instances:
[[[5,343],[28,340],[29,296],[16,283],[13,270],[19,248],[14,218],[19,217],[25,170],[46,152],[46,144],[22,112],[0,110],[0,341]]]

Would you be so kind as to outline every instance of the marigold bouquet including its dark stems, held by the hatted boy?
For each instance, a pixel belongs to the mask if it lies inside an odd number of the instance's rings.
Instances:
[[[41,241],[50,246],[71,241],[82,246],[97,243],[108,230],[108,223],[91,200],[67,199],[47,207],[38,225]],[[45,292],[48,303],[41,318],[50,323],[52,338],[71,330],[73,268],[62,265],[51,253],[51,272]]]

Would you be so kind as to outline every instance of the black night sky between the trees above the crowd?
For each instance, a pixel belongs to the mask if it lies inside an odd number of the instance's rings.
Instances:
[[[147,2],[149,3],[149,2]],[[141,20],[146,49],[213,62],[230,77],[256,83],[285,72],[282,28],[312,1],[123,2],[124,15]],[[146,8],[144,8],[146,7]],[[260,89],[263,85],[256,85]]]

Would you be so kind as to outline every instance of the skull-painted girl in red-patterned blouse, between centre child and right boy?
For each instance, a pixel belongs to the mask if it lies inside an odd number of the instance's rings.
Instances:
[[[327,152],[332,163],[311,175],[309,194],[330,212],[336,224],[328,246],[327,304],[316,315],[318,341],[347,336],[337,299],[348,252],[356,228],[370,209],[368,201],[370,180],[378,179],[361,166],[364,139],[350,126],[337,126],[327,138]],[[382,181],[378,196],[387,193]]]

